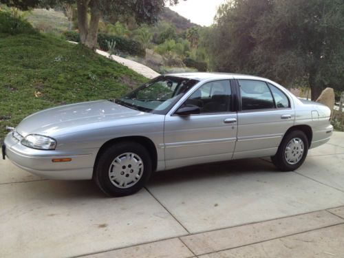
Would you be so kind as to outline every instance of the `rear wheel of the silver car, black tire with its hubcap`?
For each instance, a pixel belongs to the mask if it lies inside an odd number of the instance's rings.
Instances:
[[[303,131],[290,131],[283,138],[276,155],[271,157],[272,163],[281,171],[294,171],[305,161],[308,146],[308,138]]]

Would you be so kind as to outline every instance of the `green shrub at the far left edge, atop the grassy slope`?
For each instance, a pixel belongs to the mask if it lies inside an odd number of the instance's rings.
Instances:
[[[0,33],[4,34],[32,34],[36,33],[36,30],[32,28],[32,25],[28,21],[24,21],[15,17],[7,12],[0,12]]]

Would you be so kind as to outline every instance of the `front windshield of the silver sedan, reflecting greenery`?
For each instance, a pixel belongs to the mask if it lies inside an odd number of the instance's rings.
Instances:
[[[115,103],[153,114],[166,114],[198,80],[174,76],[159,76]]]

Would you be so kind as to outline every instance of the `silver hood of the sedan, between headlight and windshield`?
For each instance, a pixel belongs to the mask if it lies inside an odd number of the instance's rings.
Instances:
[[[21,121],[16,130],[24,137],[31,133],[54,136],[75,127],[83,129],[96,122],[111,121],[112,124],[122,119],[149,115],[109,100],[97,100],[39,111]]]

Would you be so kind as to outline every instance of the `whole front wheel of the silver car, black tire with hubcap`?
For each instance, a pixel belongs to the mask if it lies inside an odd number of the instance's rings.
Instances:
[[[102,153],[94,166],[94,181],[109,196],[136,193],[151,176],[151,156],[136,142],[118,142]]]

